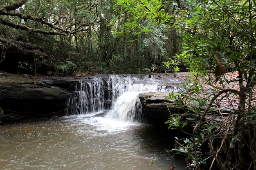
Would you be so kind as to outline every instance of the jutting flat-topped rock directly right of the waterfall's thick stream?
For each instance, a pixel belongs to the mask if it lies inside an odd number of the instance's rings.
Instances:
[[[164,100],[169,93],[141,93],[139,99],[142,104],[143,111],[148,119],[157,121],[167,121],[171,114],[184,113],[183,108],[175,106],[176,100]]]

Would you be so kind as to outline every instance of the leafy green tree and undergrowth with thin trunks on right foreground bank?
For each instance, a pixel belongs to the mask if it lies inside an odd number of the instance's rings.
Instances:
[[[178,27],[187,33],[183,35],[183,52],[177,55],[196,78],[192,80],[193,86],[186,86],[189,91],[178,97],[178,104],[198,114],[199,119],[194,119],[191,139],[184,140],[184,144],[174,150],[189,153],[195,169],[200,169],[207,159],[198,150],[208,142],[210,169],[214,163],[220,170],[255,169],[256,3],[253,0],[199,2],[190,13],[191,18],[178,21]],[[224,69],[238,76],[227,77]],[[211,86],[207,93],[198,81],[199,76],[206,77],[206,83]],[[214,110],[223,117],[219,108],[227,107],[227,102],[232,106],[226,117],[229,121],[207,121]]]

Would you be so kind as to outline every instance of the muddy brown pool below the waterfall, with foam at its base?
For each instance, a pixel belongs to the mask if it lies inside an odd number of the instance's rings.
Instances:
[[[1,170],[169,170],[169,141],[153,125],[96,113],[0,127]],[[175,170],[184,163],[174,160]]]

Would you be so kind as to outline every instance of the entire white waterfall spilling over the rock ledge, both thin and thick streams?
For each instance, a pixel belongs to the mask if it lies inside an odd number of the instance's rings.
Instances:
[[[76,93],[67,100],[67,115],[107,110],[107,119],[133,122],[141,118],[139,93],[173,90],[173,86],[161,83],[162,79],[148,78],[146,75],[98,75],[76,81],[71,89]]]

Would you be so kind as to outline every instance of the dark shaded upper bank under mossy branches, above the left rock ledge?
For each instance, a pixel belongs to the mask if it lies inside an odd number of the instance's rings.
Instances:
[[[67,59],[60,53],[47,51],[23,40],[0,38],[0,51],[4,51],[4,55],[0,55],[0,69],[9,73],[33,74],[36,64],[36,73],[48,75],[49,71],[54,71],[54,64]]]

